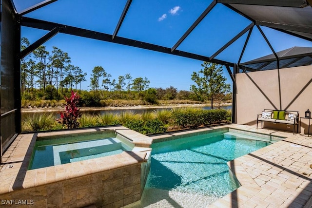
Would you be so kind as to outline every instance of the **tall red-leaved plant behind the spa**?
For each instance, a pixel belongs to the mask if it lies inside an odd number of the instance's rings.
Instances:
[[[66,125],[68,129],[78,128],[81,116],[80,109],[77,108],[79,95],[74,91],[71,94],[69,98],[65,96],[65,111],[59,112],[60,118],[56,119],[60,124]]]

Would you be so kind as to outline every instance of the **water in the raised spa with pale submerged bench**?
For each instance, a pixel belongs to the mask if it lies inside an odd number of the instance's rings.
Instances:
[[[28,170],[131,151],[134,144],[115,131],[37,138]]]

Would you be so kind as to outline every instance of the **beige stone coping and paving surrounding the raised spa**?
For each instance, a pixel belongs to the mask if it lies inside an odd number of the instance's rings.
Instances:
[[[81,132],[103,132],[107,130],[114,130],[129,138],[136,147],[132,151],[124,151],[116,155],[27,170],[37,137],[77,134]],[[150,155],[151,149],[149,147],[151,143],[152,139],[150,137],[122,126],[20,134],[3,154],[3,163],[0,165],[0,194],[142,163]]]

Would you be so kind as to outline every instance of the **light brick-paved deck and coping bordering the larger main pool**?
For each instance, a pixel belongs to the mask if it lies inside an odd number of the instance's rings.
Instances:
[[[201,133],[222,128],[247,131],[251,134],[262,133],[273,137],[283,137],[283,139],[229,161],[227,163],[229,169],[241,186],[209,207],[300,208],[307,204],[308,200],[312,198],[311,136],[229,124],[187,132],[167,133],[152,136],[152,138],[164,140],[169,137],[170,140],[171,137],[186,133]]]

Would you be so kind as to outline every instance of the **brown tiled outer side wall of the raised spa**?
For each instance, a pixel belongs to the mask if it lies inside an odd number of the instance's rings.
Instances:
[[[140,200],[141,163],[0,195],[1,207],[123,207]],[[7,203],[11,200],[11,206]],[[23,200],[23,201],[20,201]]]

